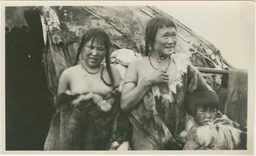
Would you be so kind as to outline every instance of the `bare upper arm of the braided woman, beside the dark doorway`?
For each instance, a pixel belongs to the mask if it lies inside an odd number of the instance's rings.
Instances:
[[[59,78],[58,95],[69,90],[69,71],[66,69]]]

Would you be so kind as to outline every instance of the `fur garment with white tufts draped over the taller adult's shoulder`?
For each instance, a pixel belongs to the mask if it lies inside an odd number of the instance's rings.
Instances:
[[[173,136],[183,130],[185,96],[197,88],[211,90],[186,55],[174,54],[171,59],[175,62],[174,81],[153,86],[139,107],[129,115],[134,128],[159,150],[181,149]]]

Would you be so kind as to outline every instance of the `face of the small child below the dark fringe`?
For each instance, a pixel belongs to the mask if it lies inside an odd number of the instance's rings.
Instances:
[[[199,125],[206,125],[211,120],[216,119],[217,117],[217,109],[204,109],[202,107],[197,107],[195,121]]]

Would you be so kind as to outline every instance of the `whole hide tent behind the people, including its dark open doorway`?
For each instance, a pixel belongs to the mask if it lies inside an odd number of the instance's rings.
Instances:
[[[34,93],[43,91],[44,95],[53,100],[57,95],[58,79],[61,73],[74,63],[80,37],[90,28],[102,28],[110,35],[113,44],[111,52],[126,48],[144,56],[144,26],[155,16],[165,16],[174,20],[178,29],[176,53],[188,55],[190,61],[202,72],[215,73],[210,76],[214,77],[212,86],[215,88],[223,85],[224,81],[221,82],[220,74],[227,73],[224,69],[231,66],[222,58],[220,51],[212,43],[154,6],[6,7],[5,15],[7,105],[20,101],[26,103],[25,97],[33,97]],[[19,73],[18,76],[17,73]],[[33,78],[29,79],[29,75],[32,75]],[[207,76],[205,77],[207,78]],[[27,83],[17,87],[14,85],[20,83],[17,79],[22,79]],[[41,79],[40,84],[30,85],[34,81],[39,81],[38,79]],[[39,87],[39,89],[30,91],[32,86]],[[49,90],[45,86],[48,86]],[[22,91],[24,89],[27,92]],[[28,90],[33,93],[28,95],[30,93]],[[14,91],[24,95],[20,95],[17,100],[14,97]],[[38,97],[34,97],[37,100],[27,103],[38,102]],[[16,100],[14,100],[15,98]],[[51,117],[54,108],[49,104],[49,99],[42,101],[48,102],[48,105],[34,107],[37,107],[37,110],[40,108],[42,111],[48,111],[48,115]],[[29,108],[33,112],[33,108]],[[51,108],[50,112],[49,108]],[[11,110],[12,108],[8,111],[11,112]],[[45,114],[44,117],[46,117]],[[50,117],[47,117],[46,125],[49,124]],[[14,120],[14,117],[7,119]],[[38,122],[38,120],[44,119],[35,120]],[[49,125],[45,129],[47,128]],[[10,126],[9,129],[12,127]],[[28,145],[24,149],[41,149],[44,137],[45,133],[41,137],[42,141],[37,142],[38,146],[28,148]],[[9,144],[10,149],[20,148],[12,148],[13,142]]]

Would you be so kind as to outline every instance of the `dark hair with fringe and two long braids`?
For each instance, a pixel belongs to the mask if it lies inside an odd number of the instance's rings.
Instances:
[[[111,66],[110,66],[110,48],[111,48],[111,42],[110,42],[110,37],[106,32],[102,29],[95,28],[95,29],[90,29],[86,33],[82,35],[81,38],[81,43],[80,46],[78,47],[78,52],[76,55],[76,60],[74,65],[77,64],[79,55],[81,54],[82,48],[84,44],[86,44],[88,41],[91,41],[91,44],[93,44],[94,40],[97,41],[97,43],[103,44],[106,50],[105,54],[105,62],[106,62],[106,70],[108,71],[108,74],[110,76],[111,84],[114,87],[114,77],[111,71]]]

